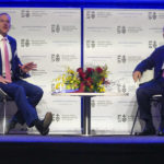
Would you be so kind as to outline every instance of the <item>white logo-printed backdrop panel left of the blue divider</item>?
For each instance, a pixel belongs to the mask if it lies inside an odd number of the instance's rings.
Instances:
[[[80,97],[51,96],[51,82],[68,66],[81,65],[81,12],[80,9],[1,8],[11,15],[10,35],[17,40],[17,54],[23,63],[34,61],[30,82],[44,90],[37,106],[38,115],[54,114],[50,133],[81,133]],[[34,128],[30,132],[35,133]]]

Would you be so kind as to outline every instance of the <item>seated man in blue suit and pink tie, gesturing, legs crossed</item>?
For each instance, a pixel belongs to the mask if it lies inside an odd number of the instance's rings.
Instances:
[[[28,127],[35,126],[40,134],[48,134],[49,126],[52,121],[52,114],[47,113],[40,120],[35,109],[43,96],[43,90],[33,85],[23,78],[30,77],[27,73],[36,69],[36,65],[28,62],[22,65],[16,54],[16,40],[8,35],[11,26],[11,17],[8,13],[0,14],[0,89],[11,96],[17,106],[17,112],[10,122],[7,124],[5,133],[9,133],[16,124],[26,124]],[[4,45],[4,43],[5,45]],[[5,63],[5,54],[9,61]],[[7,73],[7,65],[10,71]],[[10,78],[8,78],[10,77]]]

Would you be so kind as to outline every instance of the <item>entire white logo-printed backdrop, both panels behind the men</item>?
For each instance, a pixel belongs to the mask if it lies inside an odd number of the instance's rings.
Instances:
[[[110,85],[106,92],[125,94],[92,98],[92,133],[130,133],[138,108],[132,71],[141,60],[164,44],[163,10],[84,9],[83,24],[81,9],[78,8],[0,10],[11,15],[9,34],[17,40],[17,54],[22,62],[37,63],[37,70],[31,72],[32,78],[27,81],[44,90],[37,112],[40,118],[46,112],[52,113],[50,133],[81,133],[81,98],[51,95],[52,81],[68,67],[74,70],[79,68],[81,58],[84,68],[107,65]],[[81,28],[84,31],[83,47]],[[81,48],[84,48],[83,56]],[[156,110],[155,107],[153,109]],[[10,117],[8,110],[8,119]],[[140,131],[141,125],[138,120],[134,131]],[[35,128],[28,129],[28,132],[37,133]]]

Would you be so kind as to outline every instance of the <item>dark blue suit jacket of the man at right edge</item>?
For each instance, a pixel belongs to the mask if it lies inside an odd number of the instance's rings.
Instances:
[[[145,70],[154,68],[154,79],[162,77],[162,67],[164,63],[164,46],[156,48],[147,59],[141,61],[134,69],[141,73]]]

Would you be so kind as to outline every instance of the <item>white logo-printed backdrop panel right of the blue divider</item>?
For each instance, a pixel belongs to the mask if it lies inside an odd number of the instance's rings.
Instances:
[[[106,63],[110,81],[107,92],[128,95],[93,98],[93,133],[130,132],[137,110],[132,71],[154,48],[163,45],[163,10],[84,10],[85,67]],[[140,129],[137,124],[136,130]]]

